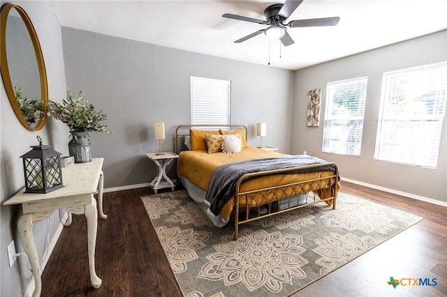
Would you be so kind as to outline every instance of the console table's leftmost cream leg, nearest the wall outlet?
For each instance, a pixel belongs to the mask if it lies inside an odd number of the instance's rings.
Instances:
[[[33,271],[34,277],[34,292],[33,297],[41,296],[42,291],[42,280],[41,280],[41,264],[39,264],[39,259],[36,251],[36,243],[34,242],[33,235],[33,215],[31,213],[21,215],[17,222],[17,229],[20,234],[20,240],[22,241],[25,253],[28,256],[29,264],[31,264],[31,269]]]

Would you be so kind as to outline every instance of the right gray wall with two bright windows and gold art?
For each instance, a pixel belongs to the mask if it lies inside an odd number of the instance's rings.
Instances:
[[[444,120],[437,169],[374,161],[383,73],[440,61],[447,61],[447,31],[298,70],[295,75],[291,153],[307,151],[337,162],[344,178],[446,202],[447,121]],[[360,158],[322,153],[326,84],[365,75],[368,86]],[[321,126],[309,128],[306,125],[306,94],[317,87],[323,89]]]

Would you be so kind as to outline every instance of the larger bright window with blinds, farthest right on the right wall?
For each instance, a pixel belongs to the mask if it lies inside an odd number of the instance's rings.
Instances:
[[[446,63],[384,73],[374,159],[436,168],[446,93]]]

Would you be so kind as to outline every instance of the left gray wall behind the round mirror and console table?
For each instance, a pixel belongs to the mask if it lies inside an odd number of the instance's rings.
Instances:
[[[1,6],[6,1],[1,1]],[[48,91],[51,98],[65,96],[64,59],[62,53],[61,27],[54,17],[50,5],[46,1],[9,1],[22,6],[31,18],[41,43],[48,78]],[[45,125],[41,131],[26,130],[15,117],[10,107],[6,91],[1,80],[0,86],[0,132],[1,132],[1,158],[0,158],[0,201],[6,199],[23,188],[23,166],[20,155],[26,153],[31,145],[37,145],[37,135],[40,135],[45,144],[51,144],[56,151],[68,153],[66,146],[66,131],[51,127],[52,123]],[[26,289],[31,280],[31,272],[27,268],[26,258],[20,257],[12,268],[8,264],[6,246],[15,240],[17,252],[23,252],[20,239],[17,236],[17,217],[21,213],[17,206],[0,206],[0,296],[22,296],[22,287]],[[52,240],[54,233],[64,212],[55,211],[50,218],[34,224],[36,248],[40,259],[48,248],[48,238]],[[23,286],[22,286],[23,282]]]

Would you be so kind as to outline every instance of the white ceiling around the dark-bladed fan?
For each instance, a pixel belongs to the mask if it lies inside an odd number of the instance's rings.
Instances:
[[[270,65],[290,70],[447,29],[446,0],[305,0],[288,20],[338,16],[337,26],[290,28],[288,47],[263,34],[233,43],[267,26],[223,13],[265,20],[274,3],[284,0],[50,0],[61,26],[263,65],[270,46]]]

